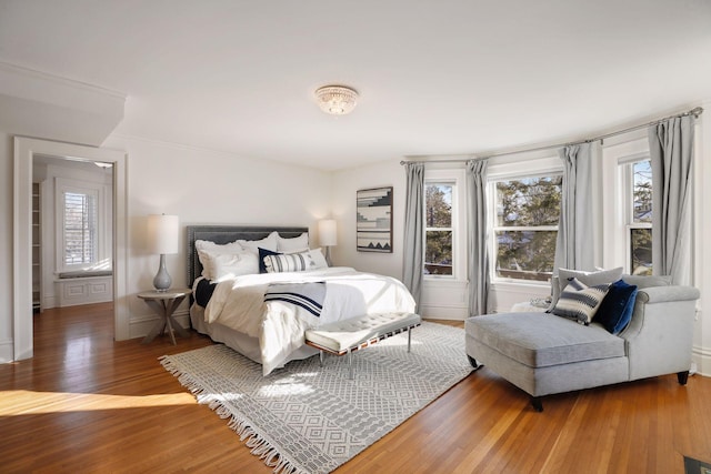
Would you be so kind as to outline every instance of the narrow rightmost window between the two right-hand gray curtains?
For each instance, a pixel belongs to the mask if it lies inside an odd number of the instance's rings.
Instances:
[[[627,261],[635,275],[652,274],[652,164],[649,159],[622,164],[627,194]]]

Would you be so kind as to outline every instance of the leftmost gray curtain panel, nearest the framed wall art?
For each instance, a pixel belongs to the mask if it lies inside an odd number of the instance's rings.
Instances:
[[[404,244],[402,282],[410,290],[417,307],[422,295],[422,271],[424,264],[424,165],[405,163],[407,195],[404,206]]]

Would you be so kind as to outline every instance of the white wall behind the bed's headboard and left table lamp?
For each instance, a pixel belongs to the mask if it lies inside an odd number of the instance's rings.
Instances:
[[[148,214],[180,219],[180,253],[167,255],[173,286],[187,285],[188,224],[307,225],[331,209],[330,173],[268,160],[111,135],[104,147],[128,153],[128,294],[130,337],[144,335],[153,314],[136,294],[152,289],[158,255],[147,251]],[[187,304],[176,313],[187,324]]]

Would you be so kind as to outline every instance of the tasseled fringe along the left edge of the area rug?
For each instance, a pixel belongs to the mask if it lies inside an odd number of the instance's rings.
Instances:
[[[249,425],[247,420],[241,420],[236,416],[234,413],[230,412],[219,400],[208,399],[209,394],[204,393],[204,389],[200,386],[194,379],[183,373],[168,355],[162,355],[158,357],[158,360],[168,372],[178,379],[178,382],[180,382],[182,386],[194,395],[199,404],[208,405],[210,410],[214,411],[222,420],[230,418],[227,424],[228,427],[238,434],[240,441],[244,443],[247,447],[251,448],[250,453],[259,456],[267,466],[273,467],[272,472],[274,474],[309,474],[308,471],[300,468],[298,465],[294,465],[293,462],[281,455],[277,447],[272,446],[268,440],[262,437]]]

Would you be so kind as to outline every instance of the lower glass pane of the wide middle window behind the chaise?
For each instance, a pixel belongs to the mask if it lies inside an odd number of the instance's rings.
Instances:
[[[550,280],[557,235],[557,231],[497,232],[497,276]]]

